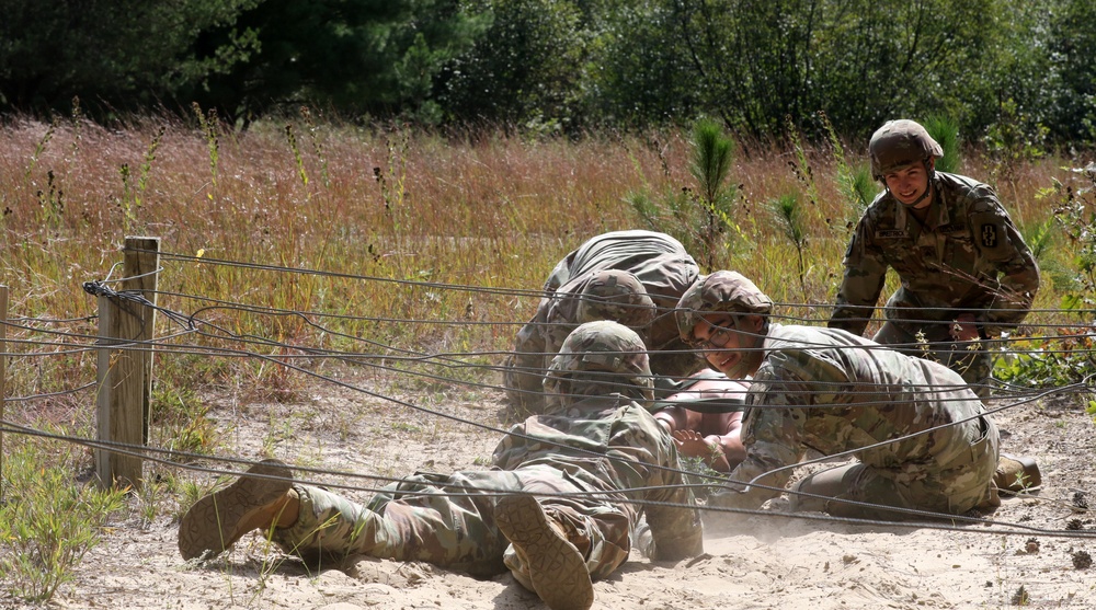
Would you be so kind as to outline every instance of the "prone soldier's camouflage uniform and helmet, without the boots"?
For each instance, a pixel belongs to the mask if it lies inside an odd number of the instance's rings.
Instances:
[[[366,506],[331,492],[294,485],[297,522],[275,531],[294,553],[367,554],[424,561],[488,576],[528,572],[494,521],[499,494],[535,494],[548,517],[585,557],[592,578],[627,557],[644,505],[652,556],[677,560],[703,551],[692,493],[682,488],[677,452],[637,401],[652,398],[641,339],[614,322],[575,330],[553,359],[547,385],[559,412],[526,419],[499,444],[487,471],[419,473],[390,485]],[[631,385],[606,390],[615,376]],[[661,503],[665,503],[662,505]],[[529,587],[532,588],[532,587]]]

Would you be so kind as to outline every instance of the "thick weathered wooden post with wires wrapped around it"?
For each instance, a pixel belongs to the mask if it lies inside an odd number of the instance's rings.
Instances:
[[[156,306],[159,238],[126,238],[121,291],[132,291]],[[152,346],[156,309],[116,297],[99,297],[99,439],[144,446],[148,442],[152,390]],[[100,485],[139,488],[142,459],[109,449],[95,450]]]

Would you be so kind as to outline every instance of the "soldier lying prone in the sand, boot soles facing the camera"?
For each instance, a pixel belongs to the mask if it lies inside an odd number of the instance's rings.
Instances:
[[[415,474],[366,506],[294,483],[276,461],[199,499],[179,526],[184,559],[219,553],[262,529],[301,556],[423,561],[476,576],[507,568],[553,610],[585,610],[592,579],[628,559],[646,513],[658,560],[703,552],[699,515],[673,442],[639,402],[652,398],[642,341],[601,321],[572,332],[546,387],[555,415],[529,417],[491,470]]]

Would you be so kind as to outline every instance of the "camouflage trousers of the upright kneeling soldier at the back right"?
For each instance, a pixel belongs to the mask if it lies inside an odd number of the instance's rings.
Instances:
[[[987,382],[993,373],[993,355],[985,342],[952,339],[947,322],[927,322],[916,331],[909,323],[887,322],[871,338],[903,354],[940,362],[958,372],[979,398],[984,399],[990,393]]]

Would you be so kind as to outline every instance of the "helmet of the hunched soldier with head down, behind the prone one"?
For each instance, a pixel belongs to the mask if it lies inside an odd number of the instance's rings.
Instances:
[[[654,301],[647,288],[631,273],[605,269],[593,274],[582,289],[574,321],[615,320],[631,329],[642,329],[654,321]]]

